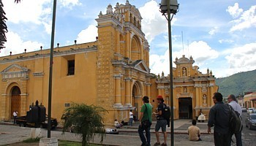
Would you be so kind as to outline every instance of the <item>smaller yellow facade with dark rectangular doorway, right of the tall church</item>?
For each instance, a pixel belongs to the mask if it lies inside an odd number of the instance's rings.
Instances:
[[[214,101],[212,97],[218,91],[215,84],[216,78],[209,69],[203,74],[198,66],[193,66],[195,61],[192,56],[176,58],[173,67],[173,115],[175,119],[196,119],[200,111],[208,118],[208,112]],[[156,82],[157,92],[151,93],[165,97],[166,104],[170,104],[170,75],[158,75]],[[153,90],[154,91],[154,90]],[[157,104],[154,104],[157,106]]]

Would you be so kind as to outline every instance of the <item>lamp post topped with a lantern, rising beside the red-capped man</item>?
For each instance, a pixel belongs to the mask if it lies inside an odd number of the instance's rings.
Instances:
[[[165,15],[168,20],[168,40],[169,40],[169,58],[170,58],[170,144],[174,145],[173,137],[173,59],[172,59],[172,39],[171,39],[171,20],[173,15],[178,12],[178,1],[177,0],[162,0],[160,4],[160,12]],[[172,14],[172,17],[170,17]],[[167,17],[166,17],[167,15]]]

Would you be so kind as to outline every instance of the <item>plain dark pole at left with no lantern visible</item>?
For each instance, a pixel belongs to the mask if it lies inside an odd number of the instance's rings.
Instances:
[[[53,45],[54,45],[54,32],[55,32],[55,20],[56,20],[56,5],[57,0],[53,0],[53,22],[51,30],[51,41],[50,41],[50,72],[49,72],[49,89],[48,89],[48,134],[50,138],[51,128],[51,94],[52,94],[52,78],[53,78]]]

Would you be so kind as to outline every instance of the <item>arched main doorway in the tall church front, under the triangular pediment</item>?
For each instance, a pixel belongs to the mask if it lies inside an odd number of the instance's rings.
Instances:
[[[132,86],[132,107],[135,107],[134,120],[138,120],[140,113],[140,99],[141,99],[141,85],[140,82],[135,82]]]

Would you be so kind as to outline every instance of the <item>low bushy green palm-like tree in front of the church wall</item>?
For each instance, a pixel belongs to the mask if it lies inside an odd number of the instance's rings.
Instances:
[[[105,128],[102,114],[107,112],[102,107],[86,104],[72,104],[71,107],[64,110],[61,119],[64,120],[63,134],[68,128],[72,128],[75,134],[82,138],[82,145],[88,145],[90,139],[99,134],[101,141],[105,137]]]

